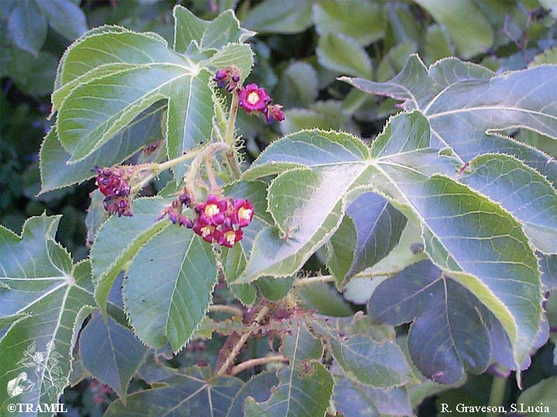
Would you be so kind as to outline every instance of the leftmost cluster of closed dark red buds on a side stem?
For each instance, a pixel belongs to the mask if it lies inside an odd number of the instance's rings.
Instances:
[[[129,180],[133,167],[99,168],[96,170],[96,185],[103,193],[103,206],[110,214],[131,216],[131,187]]]

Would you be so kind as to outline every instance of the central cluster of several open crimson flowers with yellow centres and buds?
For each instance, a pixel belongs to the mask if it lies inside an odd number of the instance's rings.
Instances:
[[[219,199],[210,195],[204,203],[196,204],[196,218],[192,221],[182,214],[182,208],[191,206],[191,197],[186,189],[166,208],[159,219],[168,215],[171,222],[193,229],[208,243],[219,243],[231,248],[242,240],[242,228],[252,222],[254,206],[247,199]]]

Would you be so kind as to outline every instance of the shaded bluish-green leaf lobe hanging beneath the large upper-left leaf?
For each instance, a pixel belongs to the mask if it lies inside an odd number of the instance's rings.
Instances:
[[[71,160],[58,140],[56,127],[52,127],[41,146],[41,193],[80,183],[95,176],[92,167],[112,167],[128,159],[143,146],[161,139],[161,117],[164,102],[153,104],[140,113],[129,125],[80,162],[68,164]]]

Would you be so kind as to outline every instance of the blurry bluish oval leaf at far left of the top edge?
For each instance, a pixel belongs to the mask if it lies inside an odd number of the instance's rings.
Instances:
[[[8,15],[8,39],[17,48],[38,56],[45,43],[48,24],[36,0],[15,1]]]

